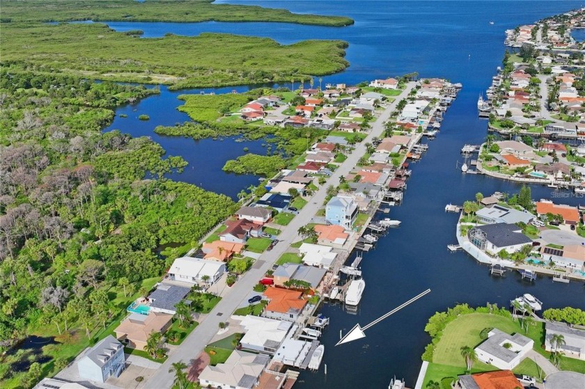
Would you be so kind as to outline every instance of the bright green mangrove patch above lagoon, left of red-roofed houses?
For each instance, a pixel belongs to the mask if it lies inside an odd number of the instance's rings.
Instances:
[[[187,113],[189,118],[197,122],[212,122],[219,119],[224,113],[237,111],[251,99],[240,93],[225,93],[223,95],[180,95],[179,100],[185,104],[179,111]]]

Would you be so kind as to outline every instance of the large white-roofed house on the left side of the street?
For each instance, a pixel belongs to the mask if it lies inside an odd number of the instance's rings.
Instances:
[[[172,280],[189,283],[215,283],[226,272],[226,264],[217,260],[203,260],[202,258],[180,257],[174,260],[169,269]],[[208,279],[205,281],[205,279]]]

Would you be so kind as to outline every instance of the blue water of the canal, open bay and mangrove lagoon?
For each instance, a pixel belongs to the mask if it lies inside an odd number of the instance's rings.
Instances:
[[[486,122],[476,117],[476,100],[490,84],[495,68],[504,54],[504,30],[527,24],[556,13],[577,8],[577,1],[218,1],[288,8],[297,13],[347,15],[355,19],[344,28],[294,26],[279,23],[205,23],[205,24],[120,24],[116,29],[142,29],[145,36],[164,33],[197,35],[201,31],[269,36],[282,43],[305,38],[334,38],[350,42],[345,72],[323,77],[327,82],[353,84],[366,79],[419,72],[423,77],[446,77],[464,85],[458,99],[448,110],[442,131],[429,141],[429,151],[412,164],[405,201],[393,207],[390,216],[403,221],[380,239],[377,248],[364,254],[361,269],[367,286],[357,315],[336,305],[325,305],[322,312],[331,317],[325,331],[327,375],[302,372],[299,388],[386,388],[393,376],[405,378],[414,387],[421,365],[420,356],[430,339],[424,326],[430,315],[456,303],[507,305],[510,299],[526,292],[544,302],[544,308],[572,305],[585,308],[583,283],[552,283],[539,277],[534,283],[520,280],[508,271],[504,278],[492,278],[487,267],[465,253],[449,253],[446,246],[456,243],[457,215],[446,214],[446,203],[462,204],[475,193],[494,191],[515,193],[520,186],[481,175],[463,175],[455,168],[461,161],[465,143],[480,143],[486,135]],[[490,24],[492,21],[494,24]],[[233,88],[217,90],[225,93]],[[238,88],[240,90],[240,88]],[[210,90],[207,90],[210,91]],[[189,92],[189,91],[187,91]],[[194,90],[198,93],[198,90]],[[182,91],[181,93],[185,93]],[[185,173],[173,175],[205,189],[233,196],[256,177],[226,176],[223,161],[243,154],[242,148],[260,148],[258,143],[198,141],[166,138],[153,134],[156,125],[172,125],[187,120],[176,111],[180,93],[162,88],[162,94],[148,97],[118,113],[110,128],[133,135],[153,136],[169,154],[181,155],[191,165]],[[134,111],[136,109],[136,111]],[[150,121],[137,116],[148,113]],[[132,117],[130,117],[132,116]],[[261,150],[260,150],[261,151]],[[192,168],[193,166],[193,168]],[[189,172],[189,169],[192,169]],[[221,173],[221,174],[220,174]],[[237,186],[237,188],[235,188]],[[566,191],[532,186],[533,198],[552,198],[559,203],[585,205]],[[356,323],[368,324],[385,312],[430,288],[432,292],[366,331],[366,338],[334,347],[339,331],[346,333]],[[473,346],[473,345],[471,345]]]

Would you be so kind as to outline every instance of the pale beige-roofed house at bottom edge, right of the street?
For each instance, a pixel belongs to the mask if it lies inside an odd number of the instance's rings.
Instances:
[[[208,365],[199,374],[203,388],[252,389],[270,362],[270,356],[234,350],[224,363]]]

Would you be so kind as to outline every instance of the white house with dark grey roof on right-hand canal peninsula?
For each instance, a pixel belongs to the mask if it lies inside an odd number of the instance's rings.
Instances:
[[[478,225],[469,230],[468,236],[471,244],[494,254],[504,249],[514,253],[526,244],[532,244],[532,239],[522,234],[522,229],[515,224]]]

